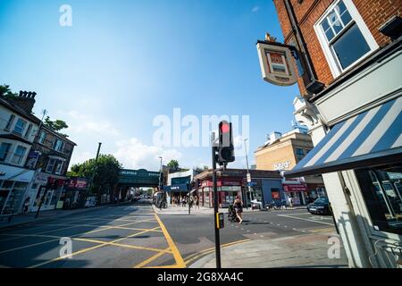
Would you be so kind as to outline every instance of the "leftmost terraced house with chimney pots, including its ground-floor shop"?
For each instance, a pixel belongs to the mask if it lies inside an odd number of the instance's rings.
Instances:
[[[21,105],[21,103],[24,103]],[[18,214],[35,172],[26,168],[40,120],[31,114],[35,94],[0,97],[0,214]]]

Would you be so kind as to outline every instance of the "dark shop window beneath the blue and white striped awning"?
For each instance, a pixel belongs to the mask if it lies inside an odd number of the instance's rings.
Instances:
[[[402,234],[402,164],[356,170],[374,229]]]

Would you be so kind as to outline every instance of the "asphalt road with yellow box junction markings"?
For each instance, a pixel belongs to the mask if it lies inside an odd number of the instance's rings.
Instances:
[[[222,245],[333,231],[331,216],[306,210],[247,213],[241,225],[225,223]],[[71,241],[71,252],[61,240]],[[213,247],[211,214],[158,215],[137,203],[0,231],[0,266],[185,267]]]

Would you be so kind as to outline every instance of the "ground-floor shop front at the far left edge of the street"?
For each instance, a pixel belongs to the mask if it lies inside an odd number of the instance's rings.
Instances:
[[[1,168],[0,214],[19,214],[34,171],[3,164]]]

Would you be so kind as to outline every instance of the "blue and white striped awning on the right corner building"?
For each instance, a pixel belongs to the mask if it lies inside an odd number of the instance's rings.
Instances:
[[[402,97],[339,122],[286,177],[402,162]]]

